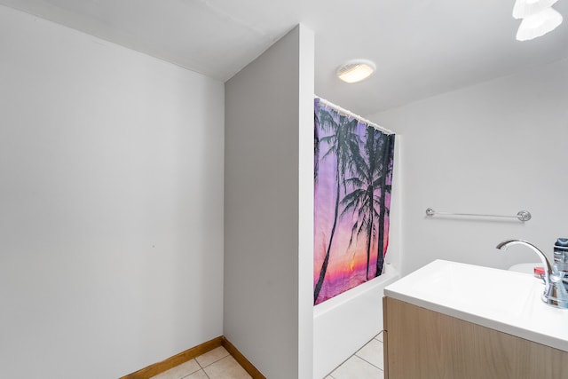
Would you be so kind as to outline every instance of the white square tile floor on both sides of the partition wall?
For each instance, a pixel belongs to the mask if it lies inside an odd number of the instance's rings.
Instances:
[[[325,379],[383,379],[383,332],[326,376]],[[217,347],[153,379],[245,379],[251,378],[225,350]]]

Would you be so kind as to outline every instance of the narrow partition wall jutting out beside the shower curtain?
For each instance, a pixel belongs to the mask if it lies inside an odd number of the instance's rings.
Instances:
[[[313,39],[225,83],[224,332],[271,379],[312,377]]]

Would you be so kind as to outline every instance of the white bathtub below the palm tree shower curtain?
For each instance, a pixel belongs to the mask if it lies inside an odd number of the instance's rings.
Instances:
[[[313,377],[331,373],[383,330],[383,288],[398,280],[383,275],[313,307]]]

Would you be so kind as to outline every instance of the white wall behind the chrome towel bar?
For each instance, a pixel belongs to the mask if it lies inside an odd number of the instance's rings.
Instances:
[[[549,257],[568,236],[568,60],[448,92],[369,118],[402,135],[403,273],[436,258],[507,268]],[[396,163],[395,163],[396,164]],[[425,209],[533,219],[425,217]]]

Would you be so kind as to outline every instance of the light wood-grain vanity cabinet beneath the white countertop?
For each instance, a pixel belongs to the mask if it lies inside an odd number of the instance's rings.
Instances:
[[[387,379],[568,378],[568,352],[388,296],[383,315]]]

